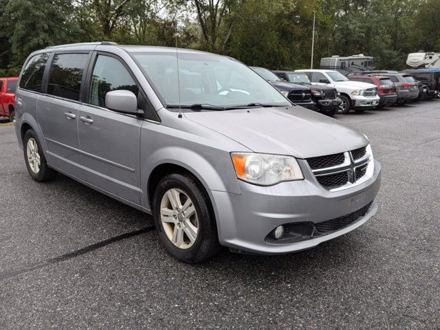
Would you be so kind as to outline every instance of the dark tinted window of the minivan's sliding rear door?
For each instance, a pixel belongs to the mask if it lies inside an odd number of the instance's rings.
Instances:
[[[89,54],[56,54],[50,69],[47,94],[78,101]]]

